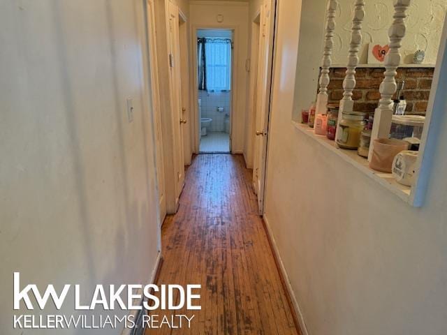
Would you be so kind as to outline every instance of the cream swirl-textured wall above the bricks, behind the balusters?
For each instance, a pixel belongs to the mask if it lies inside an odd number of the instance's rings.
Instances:
[[[332,64],[346,64],[351,40],[351,20],[354,0],[339,0],[335,28]],[[406,36],[402,43],[404,64],[411,64],[413,53],[425,50],[426,64],[434,64],[444,24],[447,0],[412,1],[406,20]],[[366,1],[362,26],[360,63],[367,63],[367,43],[388,43],[388,28],[393,22],[393,0]]]

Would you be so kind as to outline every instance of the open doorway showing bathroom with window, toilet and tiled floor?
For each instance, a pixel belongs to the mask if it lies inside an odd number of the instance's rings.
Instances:
[[[199,152],[230,153],[233,31],[197,30]]]

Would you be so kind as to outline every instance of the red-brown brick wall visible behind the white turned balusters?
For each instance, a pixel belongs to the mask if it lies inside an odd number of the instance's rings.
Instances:
[[[384,68],[357,68],[356,89],[353,91],[354,110],[374,112],[379,103],[379,85]],[[405,80],[403,91],[406,114],[425,115],[434,68],[398,68],[397,79]],[[343,98],[343,79],[346,68],[331,68],[328,87],[329,103],[339,103]]]

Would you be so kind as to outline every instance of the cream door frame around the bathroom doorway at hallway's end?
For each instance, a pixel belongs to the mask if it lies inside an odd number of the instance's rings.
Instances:
[[[193,153],[199,153],[200,147],[200,119],[198,116],[198,78],[197,78],[197,31],[198,30],[230,30],[233,31],[233,50],[231,52],[231,107],[230,107],[230,153],[233,154],[233,129],[235,118],[234,116],[234,106],[237,106],[237,101],[239,96],[237,95],[237,50],[239,46],[239,25],[228,24],[193,24],[191,26],[191,55],[192,55],[192,67],[191,67],[191,77],[193,78],[193,89],[191,89],[191,110],[194,112],[191,113],[192,117],[192,131],[193,131]]]

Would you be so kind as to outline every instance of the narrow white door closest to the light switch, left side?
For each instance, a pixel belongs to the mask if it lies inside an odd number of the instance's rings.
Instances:
[[[155,130],[155,145],[156,145],[156,175],[157,185],[159,192],[159,206],[160,206],[160,222],[166,216],[166,197],[165,197],[165,177],[164,177],[164,164],[163,164],[163,139],[161,137],[161,114],[160,114],[160,102],[159,102],[159,76],[158,66],[156,59],[156,36],[155,36],[155,12],[154,1],[147,0],[146,6],[147,17],[147,38],[149,43],[149,72],[151,78],[151,98],[152,108],[154,111],[154,130]]]

